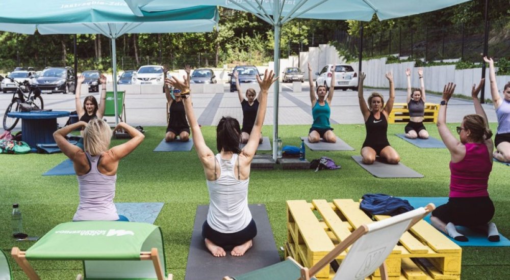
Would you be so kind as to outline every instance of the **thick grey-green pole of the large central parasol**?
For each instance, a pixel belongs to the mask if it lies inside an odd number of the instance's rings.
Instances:
[[[274,21],[274,74],[279,76],[280,72],[280,29],[281,22],[279,1],[273,1],[273,21]],[[279,95],[279,79],[274,82],[273,97],[273,160],[276,162],[278,158],[278,95]]]

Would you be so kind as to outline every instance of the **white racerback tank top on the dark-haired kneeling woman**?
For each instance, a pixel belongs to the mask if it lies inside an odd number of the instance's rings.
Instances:
[[[216,181],[207,180],[209,189],[209,212],[207,223],[221,233],[235,233],[246,228],[251,221],[248,208],[248,184],[250,179],[239,180],[234,174],[234,166],[238,163],[238,155],[231,159],[222,159],[220,154],[216,160],[220,164],[220,177]]]

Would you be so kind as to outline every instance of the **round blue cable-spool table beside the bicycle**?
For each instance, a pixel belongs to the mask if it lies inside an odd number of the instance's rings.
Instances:
[[[53,144],[53,132],[57,131],[57,118],[68,117],[68,111],[11,112],[10,118],[21,119],[21,138],[30,147],[36,144]]]

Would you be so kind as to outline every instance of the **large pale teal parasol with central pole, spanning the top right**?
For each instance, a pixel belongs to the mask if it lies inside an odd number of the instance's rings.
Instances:
[[[250,12],[274,27],[274,72],[279,73],[280,32],[283,24],[294,18],[352,19],[370,21],[409,16],[450,7],[469,0],[124,0],[133,13],[150,16],[162,11],[196,5],[216,5]],[[361,53],[360,53],[361,54]],[[361,65],[361,63],[360,63]],[[278,81],[274,83],[273,159],[278,139]]]

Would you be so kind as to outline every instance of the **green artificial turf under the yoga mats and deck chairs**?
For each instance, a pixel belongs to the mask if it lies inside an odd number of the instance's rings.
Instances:
[[[451,129],[458,124],[449,124]],[[435,125],[426,125],[431,136],[439,138]],[[491,124],[495,131],[496,124]],[[266,205],[273,229],[276,247],[284,245],[286,233],[286,200],[347,198],[358,200],[369,192],[387,193],[405,197],[446,197],[450,171],[446,149],[419,149],[394,136],[402,133],[404,124],[390,125],[390,144],[399,152],[401,162],[425,177],[420,179],[378,179],[367,173],[350,157],[358,155],[365,138],[363,125],[334,125],[335,132],[355,151],[312,152],[307,159],[327,155],[342,165],[336,171],[311,170],[252,170],[249,202]],[[284,145],[299,146],[299,136],[307,134],[309,126],[279,126]],[[144,142],[132,154],[122,159],[118,167],[116,202],[164,202],[156,225],[161,226],[165,242],[167,270],[174,279],[184,279],[188,249],[197,205],[207,204],[208,191],[202,166],[196,152],[152,152],[165,132],[164,127],[146,128]],[[215,127],[202,127],[207,144],[216,152]],[[272,127],[263,129],[272,135]],[[118,145],[125,140],[114,140]],[[268,152],[269,153],[269,152]],[[54,155],[0,155],[0,247],[9,252],[11,247],[29,248],[34,242],[16,242],[11,238],[10,213],[12,203],[19,203],[23,226],[30,236],[42,236],[58,223],[72,219],[78,206],[78,183],[75,176],[42,174],[62,160]],[[500,233],[510,237],[508,218],[510,167],[494,163],[489,180],[489,192],[496,206],[493,221]],[[283,253],[280,253],[283,256]],[[510,278],[510,261],[504,256],[510,247],[464,247],[462,253],[463,279]],[[10,259],[14,277],[27,279]],[[80,262],[34,262],[43,279],[69,279],[81,273]]]

